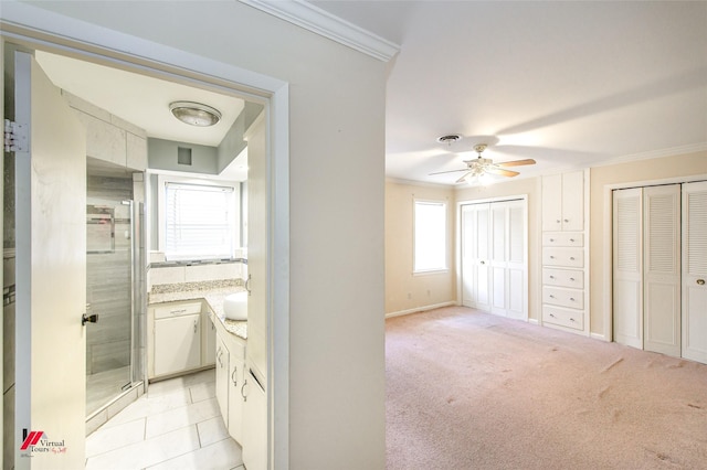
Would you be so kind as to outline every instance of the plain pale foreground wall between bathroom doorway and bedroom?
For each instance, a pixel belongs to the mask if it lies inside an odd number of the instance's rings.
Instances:
[[[289,83],[289,467],[384,468],[386,64],[236,1],[36,4]]]

